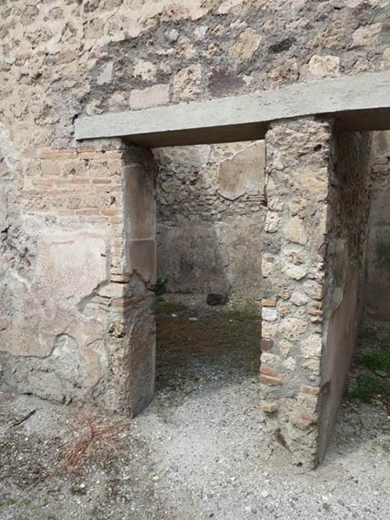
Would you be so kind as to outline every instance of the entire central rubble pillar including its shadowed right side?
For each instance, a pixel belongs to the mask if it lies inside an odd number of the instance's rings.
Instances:
[[[262,409],[271,451],[322,460],[362,312],[371,135],[312,118],[266,135]]]

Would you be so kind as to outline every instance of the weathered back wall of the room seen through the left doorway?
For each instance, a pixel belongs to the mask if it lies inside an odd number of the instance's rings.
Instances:
[[[154,154],[158,271],[168,291],[261,300],[264,142]]]

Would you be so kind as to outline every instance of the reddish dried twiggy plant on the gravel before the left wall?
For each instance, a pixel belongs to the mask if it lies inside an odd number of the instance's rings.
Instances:
[[[98,419],[97,414],[88,412],[77,417],[74,422],[63,423],[73,435],[64,446],[66,455],[60,464],[62,469],[80,471],[83,460],[95,456],[98,449],[113,449],[110,439],[118,436],[128,425],[129,420],[113,421],[107,417]]]

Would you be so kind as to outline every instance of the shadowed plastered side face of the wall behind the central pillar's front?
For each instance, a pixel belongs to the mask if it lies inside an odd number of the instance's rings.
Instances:
[[[327,224],[327,280],[321,370],[320,460],[339,410],[362,316],[371,134],[335,135]]]

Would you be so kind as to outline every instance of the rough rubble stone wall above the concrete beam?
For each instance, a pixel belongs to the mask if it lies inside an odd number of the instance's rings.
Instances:
[[[385,0],[6,0],[2,122],[27,157],[68,147],[82,114],[385,70],[389,11]]]

